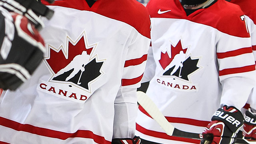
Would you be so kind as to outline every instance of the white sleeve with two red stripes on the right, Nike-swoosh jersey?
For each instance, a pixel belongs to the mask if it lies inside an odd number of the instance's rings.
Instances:
[[[216,52],[219,79],[222,84],[221,105],[241,109],[255,86],[256,71],[251,38],[244,22],[244,16],[235,18],[241,18],[240,21],[237,20],[241,24],[237,24],[238,27],[233,30],[239,30],[242,36],[219,32]],[[242,24],[244,27],[241,27]]]

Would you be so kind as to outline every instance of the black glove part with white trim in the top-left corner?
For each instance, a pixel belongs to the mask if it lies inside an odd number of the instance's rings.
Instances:
[[[54,0],[46,1],[50,3],[54,2]],[[26,16],[38,30],[41,30],[44,27],[44,23],[40,20],[39,15],[50,19],[54,14],[53,10],[50,10],[47,6],[41,4],[37,0],[0,0],[0,6],[9,12],[15,12]]]

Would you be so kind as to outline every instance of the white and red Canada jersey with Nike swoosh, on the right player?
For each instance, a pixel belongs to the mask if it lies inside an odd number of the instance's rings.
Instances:
[[[202,133],[220,105],[241,109],[255,84],[255,62],[239,6],[216,0],[186,16],[179,0],[150,0],[152,48],[146,94],[176,128]],[[168,136],[139,107],[136,136],[162,144],[200,143]]]

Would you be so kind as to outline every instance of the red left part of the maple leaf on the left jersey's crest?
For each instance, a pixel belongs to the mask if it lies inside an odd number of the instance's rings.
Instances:
[[[82,54],[83,51],[87,51],[87,54],[89,55],[92,52],[92,48],[86,49],[84,36],[82,36],[75,45],[73,45],[71,42],[68,42],[68,59],[65,58],[62,50],[56,52],[50,49],[50,58],[46,59],[46,61],[56,74],[62,68],[66,67],[75,56]]]

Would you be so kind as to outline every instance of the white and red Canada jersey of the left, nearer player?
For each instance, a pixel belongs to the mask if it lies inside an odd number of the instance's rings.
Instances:
[[[132,138],[150,17],[136,0],[58,0],[31,80],[0,98],[0,142],[111,144]],[[114,129],[114,130],[113,130]]]

